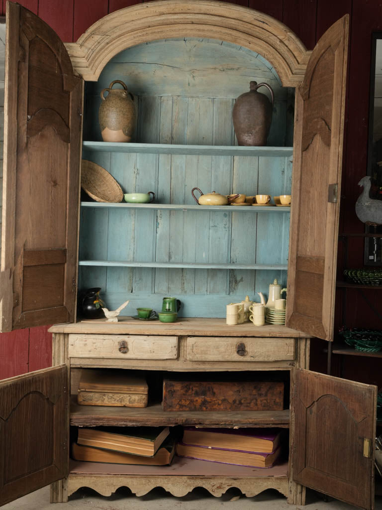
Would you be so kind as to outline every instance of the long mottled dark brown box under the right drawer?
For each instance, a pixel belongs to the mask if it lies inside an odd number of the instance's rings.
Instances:
[[[284,381],[163,379],[163,411],[281,411]]]

